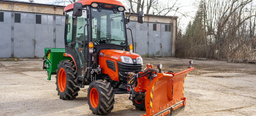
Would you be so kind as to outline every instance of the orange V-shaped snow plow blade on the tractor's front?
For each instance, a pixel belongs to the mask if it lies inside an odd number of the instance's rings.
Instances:
[[[146,114],[143,116],[174,116],[184,110],[184,81],[193,69],[178,73],[157,73],[145,95]]]

